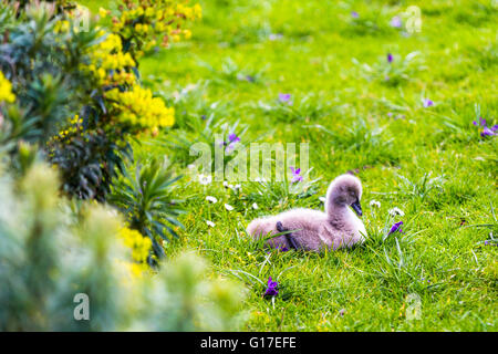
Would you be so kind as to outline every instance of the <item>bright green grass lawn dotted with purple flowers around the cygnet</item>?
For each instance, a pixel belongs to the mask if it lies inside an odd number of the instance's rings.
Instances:
[[[238,122],[243,144],[309,142],[310,175],[320,179],[302,195],[249,181],[236,195],[184,177],[175,194],[185,200],[185,230],[167,254],[195,250],[214,277],[246,283],[247,331],[497,331],[498,247],[484,242],[497,232],[498,137],[483,138],[473,125],[476,110],[498,123],[496,1],[200,3],[193,39],[141,63],[147,84],[181,98],[177,126],[144,140],[137,158],[166,155],[188,174],[189,144]],[[406,37],[388,23],[412,4],[422,10],[422,32]],[[292,110],[277,103],[279,93],[292,94]],[[434,106],[423,107],[424,97]],[[319,197],[347,170],[363,183],[365,244],[267,253],[245,233],[259,216],[322,209]],[[405,216],[391,218],[393,207]],[[405,233],[383,240],[398,220]],[[269,277],[280,285],[274,302],[261,296]],[[421,299],[419,320],[406,319],[411,294]]]

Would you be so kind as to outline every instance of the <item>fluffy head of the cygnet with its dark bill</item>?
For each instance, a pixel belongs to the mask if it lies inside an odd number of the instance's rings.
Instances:
[[[357,216],[362,216],[360,199],[362,198],[362,183],[353,175],[336,177],[326,190],[325,212],[338,206],[351,206]]]

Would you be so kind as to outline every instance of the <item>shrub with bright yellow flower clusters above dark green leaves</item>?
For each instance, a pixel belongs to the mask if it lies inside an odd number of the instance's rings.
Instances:
[[[89,30],[82,31],[82,10],[77,6],[61,9],[51,20],[53,30],[45,33],[64,44],[56,54],[60,62],[68,59],[74,64],[71,73],[79,91],[74,106],[63,113],[75,119],[54,124],[46,156],[61,171],[64,190],[103,201],[123,163],[133,155],[129,137],[155,136],[175,122],[174,108],[142,86],[139,56],[158,42],[167,46],[169,41],[189,38],[184,25],[200,18],[201,10],[184,0],[120,0],[113,11],[98,11],[112,21],[97,24],[91,18]]]

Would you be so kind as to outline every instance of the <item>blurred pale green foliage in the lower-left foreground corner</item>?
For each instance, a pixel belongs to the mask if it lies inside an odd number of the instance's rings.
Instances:
[[[3,166],[2,166],[3,167]],[[35,163],[21,179],[0,174],[1,331],[232,331],[241,288],[210,279],[194,254],[134,274],[123,221],[96,204],[61,198],[56,173]],[[75,321],[77,293],[90,320]]]

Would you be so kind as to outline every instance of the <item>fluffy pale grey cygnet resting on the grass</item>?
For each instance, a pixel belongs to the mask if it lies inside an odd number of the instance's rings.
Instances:
[[[268,247],[286,247],[320,251],[339,249],[363,242],[365,226],[350,207],[362,216],[360,200],[362,184],[353,175],[341,175],[329,186],[325,212],[312,209],[292,209],[277,216],[252,220],[247,232],[253,238],[267,237],[284,231],[286,235],[268,239]]]

